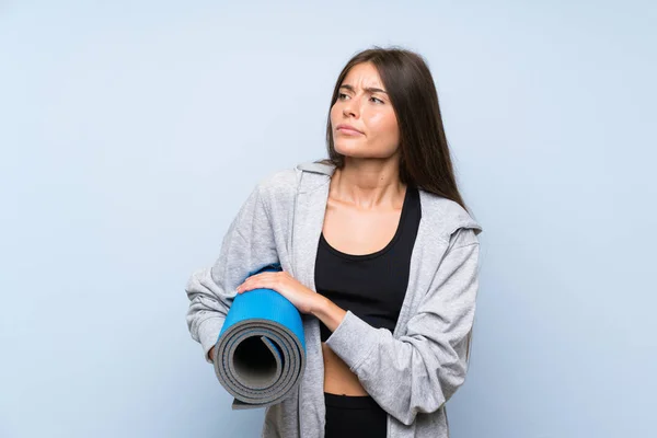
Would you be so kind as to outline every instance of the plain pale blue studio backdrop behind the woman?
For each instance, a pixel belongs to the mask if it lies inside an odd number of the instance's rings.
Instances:
[[[372,44],[428,60],[484,227],[452,437],[654,437],[655,3],[307,3],[0,2],[0,437],[260,436],[184,285]]]

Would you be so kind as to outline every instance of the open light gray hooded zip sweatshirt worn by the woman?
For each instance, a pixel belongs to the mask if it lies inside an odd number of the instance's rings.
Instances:
[[[314,263],[334,169],[306,162],[261,180],[230,224],[217,262],[192,275],[187,325],[208,362],[249,273],[279,263],[316,291]],[[326,345],[388,413],[387,437],[447,438],[445,403],[468,371],[482,228],[459,204],[424,189],[419,195],[422,219],[394,332],[347,310]],[[324,438],[320,325],[313,315],[302,319],[306,370],[288,397],[266,407],[263,438]]]

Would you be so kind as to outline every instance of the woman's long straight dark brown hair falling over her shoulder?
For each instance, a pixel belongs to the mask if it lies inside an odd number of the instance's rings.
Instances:
[[[377,68],[396,115],[401,139],[400,180],[451,199],[468,210],[457,187],[434,78],[420,55],[378,46],[356,54],[337,77],[330,108],[337,101],[339,87],[349,70],[362,62],[371,62]],[[331,111],[326,147],[328,159],[318,162],[344,168],[344,155],[336,152],[333,145]]]

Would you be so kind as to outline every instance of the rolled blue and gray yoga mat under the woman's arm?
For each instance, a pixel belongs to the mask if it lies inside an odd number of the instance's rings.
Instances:
[[[262,272],[281,270],[280,264]],[[306,336],[297,308],[272,289],[238,293],[215,348],[215,373],[234,397],[233,410],[280,403],[301,381]]]

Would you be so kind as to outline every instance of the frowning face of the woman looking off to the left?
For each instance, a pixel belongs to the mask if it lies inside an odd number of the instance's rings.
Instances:
[[[396,152],[396,116],[372,64],[356,65],[345,77],[331,107],[331,128],[335,151],[343,155],[389,158]]]

